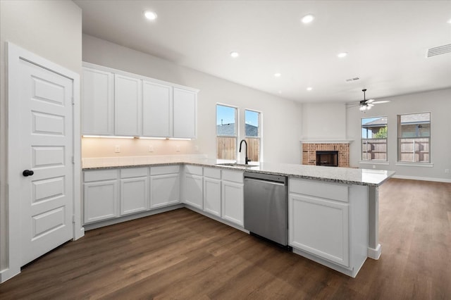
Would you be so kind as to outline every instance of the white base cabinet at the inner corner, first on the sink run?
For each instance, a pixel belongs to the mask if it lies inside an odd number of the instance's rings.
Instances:
[[[202,167],[185,165],[185,191],[183,193],[185,204],[201,210],[204,208],[202,183]]]

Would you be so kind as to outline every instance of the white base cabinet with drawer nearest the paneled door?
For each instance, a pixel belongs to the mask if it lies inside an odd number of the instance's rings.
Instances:
[[[84,173],[83,213],[85,223],[119,215],[118,170],[91,170]]]

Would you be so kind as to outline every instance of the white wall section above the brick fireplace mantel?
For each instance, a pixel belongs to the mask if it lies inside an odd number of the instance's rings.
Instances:
[[[345,104],[302,104],[302,139],[346,139]]]

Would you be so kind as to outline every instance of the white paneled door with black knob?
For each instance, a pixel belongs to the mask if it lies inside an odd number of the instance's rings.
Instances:
[[[73,237],[73,80],[20,59],[20,249],[25,265]]]

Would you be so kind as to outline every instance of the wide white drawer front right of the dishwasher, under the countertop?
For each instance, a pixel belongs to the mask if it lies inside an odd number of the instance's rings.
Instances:
[[[334,185],[317,180],[298,180],[290,178],[288,181],[290,193],[316,196],[319,198],[348,201],[347,185]]]

